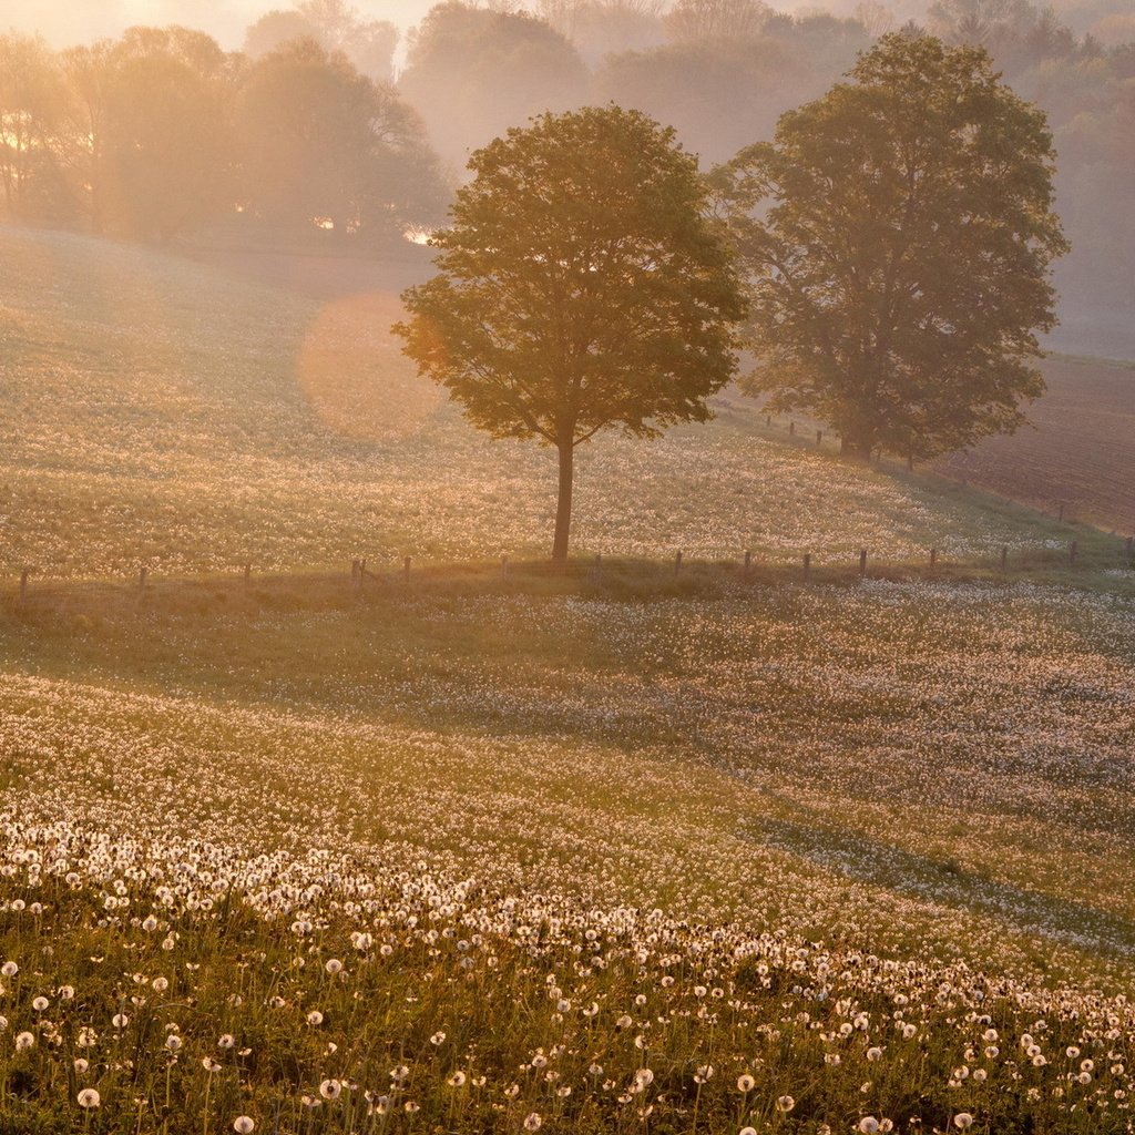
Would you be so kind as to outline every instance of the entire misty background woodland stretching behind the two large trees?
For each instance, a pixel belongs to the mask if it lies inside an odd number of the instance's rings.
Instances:
[[[1099,6],[1098,6],[1099,7]],[[1113,10],[1112,10],[1113,9]],[[388,251],[443,221],[471,150],[544,110],[617,103],[676,128],[706,168],[771,138],[889,31],[983,45],[1052,127],[1073,243],[1065,311],[1135,311],[1135,15],[1079,32],[1029,0],[878,0],[849,16],[762,0],[449,0],[404,44],[344,0],[308,0],[227,52],[183,27],[54,51],[0,36],[9,218],[170,242]]]

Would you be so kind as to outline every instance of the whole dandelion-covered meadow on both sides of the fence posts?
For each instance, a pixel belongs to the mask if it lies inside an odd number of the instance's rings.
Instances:
[[[2,1135],[1130,1129],[1118,540],[730,396],[502,575],[389,296],[0,243]]]

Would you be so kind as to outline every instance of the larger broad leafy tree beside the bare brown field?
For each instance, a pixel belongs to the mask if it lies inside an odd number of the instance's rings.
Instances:
[[[751,274],[756,390],[846,452],[1011,431],[1054,326],[1053,151],[987,54],[888,35],[718,171]],[[764,217],[758,210],[766,208]]]

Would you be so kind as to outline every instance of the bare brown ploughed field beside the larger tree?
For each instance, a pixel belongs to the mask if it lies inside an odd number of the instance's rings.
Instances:
[[[1105,529],[1135,531],[1135,363],[1053,355],[1034,429],[956,453],[939,471]]]

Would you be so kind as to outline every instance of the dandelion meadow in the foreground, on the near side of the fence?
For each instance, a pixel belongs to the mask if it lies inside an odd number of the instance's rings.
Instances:
[[[0,624],[0,1130],[1129,1130],[1129,600],[344,596]]]

